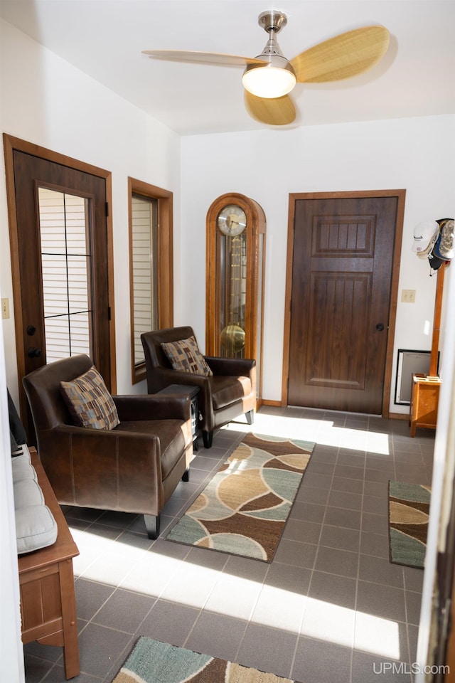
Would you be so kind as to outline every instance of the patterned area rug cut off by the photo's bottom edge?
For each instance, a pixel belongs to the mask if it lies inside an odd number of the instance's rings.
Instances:
[[[112,683],[296,683],[141,637]]]

